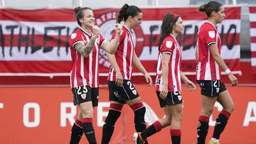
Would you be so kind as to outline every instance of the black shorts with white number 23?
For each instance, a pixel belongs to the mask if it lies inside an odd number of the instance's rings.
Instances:
[[[99,101],[99,88],[80,86],[72,89],[74,105],[92,101],[92,106],[97,106]]]

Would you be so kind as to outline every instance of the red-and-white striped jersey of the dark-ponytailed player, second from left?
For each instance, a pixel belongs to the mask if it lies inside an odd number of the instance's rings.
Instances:
[[[114,39],[116,33],[112,35]],[[117,65],[120,69],[123,79],[131,79],[132,76],[132,58],[134,56],[134,41],[132,38],[132,31],[126,26],[122,26],[122,32],[119,38],[119,45],[117,51],[114,52],[114,56],[117,60]],[[110,68],[110,73],[107,80],[115,81],[116,72],[113,68]]]

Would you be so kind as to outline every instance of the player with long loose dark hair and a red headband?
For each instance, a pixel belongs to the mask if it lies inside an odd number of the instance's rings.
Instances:
[[[182,33],[183,28],[181,16],[175,13],[166,14],[161,25],[156,72],[156,95],[166,116],[155,121],[142,133],[134,133],[135,143],[144,143],[147,137],[170,125],[172,143],[181,143],[181,79],[188,89],[196,89],[195,84],[181,72],[181,48],[176,37]]]

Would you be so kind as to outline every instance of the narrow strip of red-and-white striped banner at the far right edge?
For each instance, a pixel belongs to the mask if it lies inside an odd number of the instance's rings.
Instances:
[[[256,6],[250,6],[249,12],[252,73],[256,73]]]

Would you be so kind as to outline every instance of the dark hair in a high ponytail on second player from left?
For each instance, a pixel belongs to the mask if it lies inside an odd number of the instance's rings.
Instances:
[[[119,10],[117,16],[117,23],[120,23],[122,20],[126,21],[129,16],[137,16],[138,13],[141,13],[142,10],[139,9],[137,6],[129,6],[128,4],[124,4],[122,8]]]

